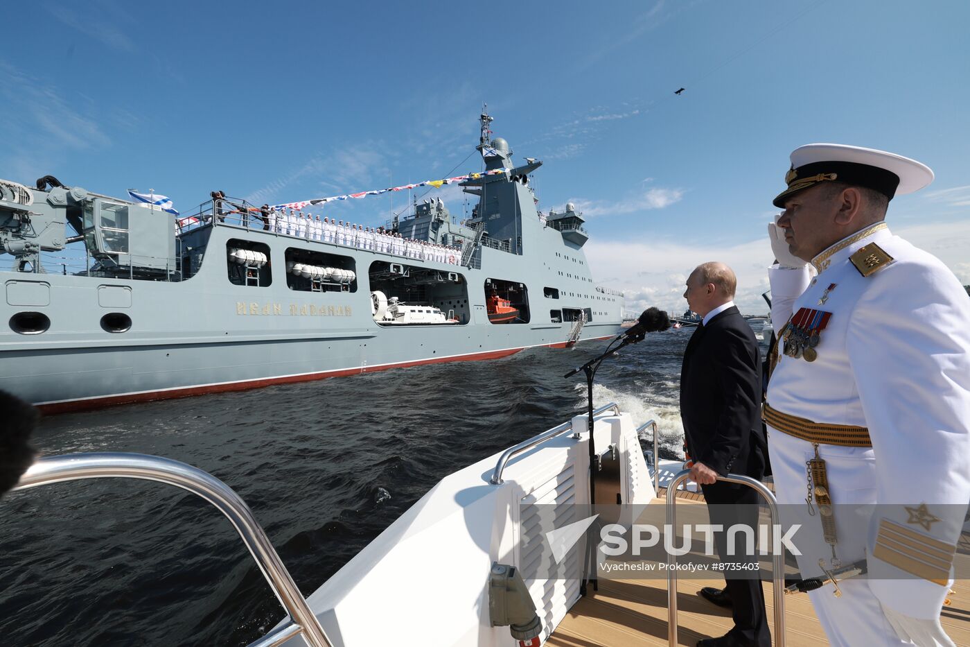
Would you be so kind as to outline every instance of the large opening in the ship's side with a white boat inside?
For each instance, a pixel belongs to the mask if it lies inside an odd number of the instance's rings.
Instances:
[[[468,282],[458,272],[375,260],[368,279],[371,314],[378,325],[448,327],[471,320]]]

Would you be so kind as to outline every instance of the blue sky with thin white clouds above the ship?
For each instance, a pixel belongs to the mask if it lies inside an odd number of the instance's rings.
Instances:
[[[970,283],[970,3],[647,0],[15,3],[0,49],[0,177],[189,211],[209,191],[285,202],[480,169],[493,130],[540,208],[584,211],[598,283],[686,307],[704,260],[763,312],[764,230],[788,155],[881,148],[936,172],[890,227]],[[677,96],[674,90],[685,87]],[[455,187],[440,195],[466,209]],[[328,205],[382,223],[395,195]]]

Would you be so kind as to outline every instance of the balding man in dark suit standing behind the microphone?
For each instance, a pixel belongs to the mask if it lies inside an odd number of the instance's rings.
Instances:
[[[726,529],[757,525],[760,494],[746,486],[718,482],[717,477],[731,472],[760,480],[766,462],[758,342],[734,306],[736,287],[734,272],[724,263],[703,263],[691,273],[684,298],[703,323],[688,342],[680,377],[680,415],[694,461],[691,478],[700,484],[711,523]],[[723,562],[755,560],[728,556],[725,535],[714,533]],[[727,635],[700,640],[698,647],[767,647],[771,636],[758,571],[728,570],[726,579],[724,595],[732,605],[734,628]]]

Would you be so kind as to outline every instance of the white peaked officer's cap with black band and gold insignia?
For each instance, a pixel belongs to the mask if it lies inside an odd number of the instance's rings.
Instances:
[[[792,151],[792,169],[773,204],[785,208],[794,193],[823,182],[844,182],[886,195],[912,193],[933,181],[933,171],[915,159],[844,144],[808,144]]]

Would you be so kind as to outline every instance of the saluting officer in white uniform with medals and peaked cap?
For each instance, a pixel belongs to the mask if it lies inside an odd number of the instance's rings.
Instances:
[[[809,593],[833,645],[954,644],[939,619],[970,500],[970,299],[883,221],[932,179],[892,153],[804,146],[768,225],[784,350],[764,420],[801,575],[835,574]],[[867,574],[838,575],[854,565]]]

